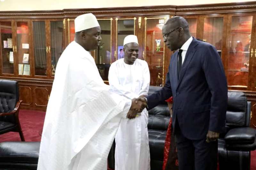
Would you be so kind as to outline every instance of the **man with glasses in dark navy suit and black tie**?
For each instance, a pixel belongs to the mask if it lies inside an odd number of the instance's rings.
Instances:
[[[180,16],[170,18],[162,32],[166,46],[177,51],[164,87],[146,97],[148,109],[172,96],[179,169],[216,170],[228,99],[220,56],[211,44],[191,37],[188,22]]]

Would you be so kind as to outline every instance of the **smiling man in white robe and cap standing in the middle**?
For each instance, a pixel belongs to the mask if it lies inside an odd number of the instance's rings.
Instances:
[[[150,75],[148,63],[138,59],[137,36],[124,38],[124,58],[111,64],[109,85],[127,99],[147,95]],[[144,109],[135,119],[122,119],[116,133],[115,170],[150,170],[148,144],[148,111]]]

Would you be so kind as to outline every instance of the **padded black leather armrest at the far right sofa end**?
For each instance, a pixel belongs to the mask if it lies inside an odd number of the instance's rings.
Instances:
[[[252,151],[256,148],[255,137],[256,129],[243,127],[229,130],[224,139],[229,149]]]

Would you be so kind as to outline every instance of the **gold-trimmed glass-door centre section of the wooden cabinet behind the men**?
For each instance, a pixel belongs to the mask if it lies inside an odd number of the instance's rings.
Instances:
[[[101,78],[108,83],[110,64],[123,58],[124,37],[134,34],[138,37],[139,58],[148,62],[150,85],[163,86],[168,71],[169,49],[165,48],[162,27],[169,15],[111,16],[97,17],[101,27],[101,44],[91,52]],[[68,21],[68,43],[74,40],[75,25],[73,18]],[[158,41],[158,42],[156,42]]]

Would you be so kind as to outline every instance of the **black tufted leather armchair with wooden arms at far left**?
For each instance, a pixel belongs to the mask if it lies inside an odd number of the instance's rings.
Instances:
[[[0,80],[0,134],[19,132],[25,141],[19,121],[19,87],[17,81]]]

